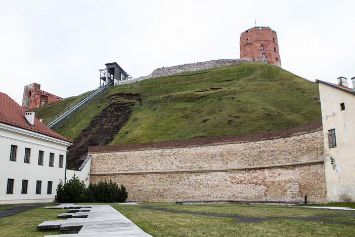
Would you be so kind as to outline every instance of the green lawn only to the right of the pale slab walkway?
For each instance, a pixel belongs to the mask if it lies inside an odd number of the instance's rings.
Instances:
[[[266,205],[175,205],[169,203],[146,203],[143,205],[165,210],[264,218],[355,214],[355,212],[350,211],[305,210],[300,207]],[[234,218],[168,213],[142,209],[140,206],[113,207],[153,236],[353,236],[355,232],[355,225],[287,219],[242,223]],[[325,219],[346,222],[355,221],[354,216]]]

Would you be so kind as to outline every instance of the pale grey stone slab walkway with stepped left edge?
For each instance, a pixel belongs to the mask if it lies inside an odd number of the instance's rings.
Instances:
[[[68,209],[58,218],[69,218],[40,223],[39,230],[79,230],[77,234],[47,236],[151,236],[110,205],[61,205]]]

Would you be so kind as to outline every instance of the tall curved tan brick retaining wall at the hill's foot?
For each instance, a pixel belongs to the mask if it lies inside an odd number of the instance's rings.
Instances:
[[[97,150],[97,151],[95,151]],[[124,184],[128,201],[326,202],[323,132],[185,147],[92,147],[91,181]]]

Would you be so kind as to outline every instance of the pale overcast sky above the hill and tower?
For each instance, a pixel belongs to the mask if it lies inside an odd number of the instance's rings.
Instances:
[[[355,1],[0,3],[0,91],[20,104],[34,82],[61,97],[93,90],[108,62],[138,77],[239,58],[240,33],[254,19],[277,31],[284,69],[311,81],[355,76]]]

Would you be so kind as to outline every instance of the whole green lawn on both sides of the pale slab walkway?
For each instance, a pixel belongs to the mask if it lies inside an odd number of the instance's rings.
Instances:
[[[352,236],[355,232],[355,225],[285,219],[286,217],[322,215],[325,216],[322,217],[322,220],[355,223],[355,216],[327,217],[331,215],[355,214],[355,212],[351,211],[236,204],[176,205],[173,203],[143,203],[140,206],[110,205],[153,236],[284,236],[286,234],[289,236]],[[169,213],[166,211],[180,211],[181,213]],[[38,231],[36,227],[42,221],[57,220],[57,215],[63,212],[66,211],[48,210],[39,207],[0,219],[0,236],[43,236],[62,233],[59,231]],[[185,212],[194,212],[194,214]],[[240,222],[236,218],[207,216],[208,214],[270,218],[271,220]],[[273,218],[280,219],[272,220]]]

